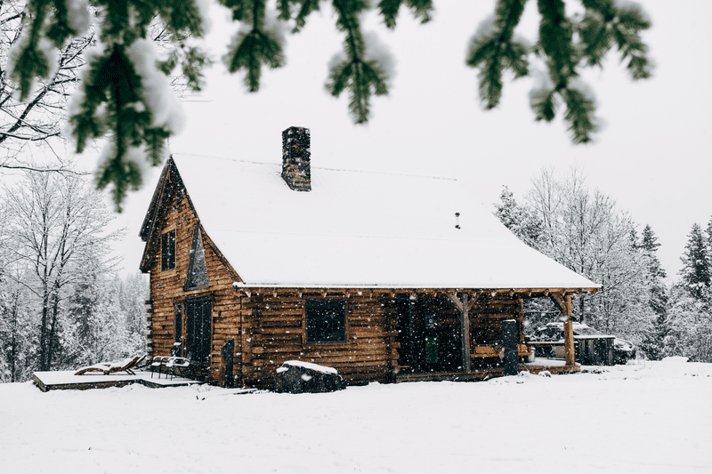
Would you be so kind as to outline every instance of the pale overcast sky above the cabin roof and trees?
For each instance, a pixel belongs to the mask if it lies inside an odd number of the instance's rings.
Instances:
[[[238,26],[211,4],[213,28],[206,43],[219,59]],[[531,79],[507,80],[499,107],[482,110],[477,71],[465,67],[465,50],[495,2],[434,4],[434,19],[426,25],[401,8],[394,32],[376,15],[368,16],[364,29],[376,31],[396,60],[391,94],[372,101],[368,125],[352,124],[347,94],[336,100],[324,90],[328,60],[341,50],[343,36],[336,32],[331,7],[323,3],[302,33],[287,35],[287,66],[263,70],[260,92],[245,92],[242,76],[227,74],[218,61],[207,72],[206,90],[183,103],[186,126],[171,141],[171,151],[279,163],[281,131],[305,126],[312,130],[314,166],[453,176],[486,204],[498,201],[503,185],[522,201],[543,166],[560,173],[579,166],[589,186],[614,197],[640,229],[651,225],[662,244],[659,257],[675,276],[692,223],[705,226],[712,216],[712,38],[707,31],[712,2],[644,2],[653,22],[643,39],[657,64],[654,76],[634,83],[615,51],[603,69],[584,76],[604,123],[587,146],[572,145],[558,118],[554,124],[533,120]],[[526,8],[517,33],[533,41],[536,2]],[[139,265],[138,229],[157,179],[154,170],[118,220],[128,228],[120,246],[125,271]]]

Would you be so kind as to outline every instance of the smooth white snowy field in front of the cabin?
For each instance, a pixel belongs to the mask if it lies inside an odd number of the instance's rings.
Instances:
[[[0,384],[0,471],[712,472],[712,365],[641,364],[304,395]]]

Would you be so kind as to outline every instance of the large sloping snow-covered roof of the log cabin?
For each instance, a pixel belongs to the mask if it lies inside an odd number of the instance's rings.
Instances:
[[[450,178],[312,166],[312,191],[300,192],[277,163],[174,163],[240,285],[599,287],[523,244]]]

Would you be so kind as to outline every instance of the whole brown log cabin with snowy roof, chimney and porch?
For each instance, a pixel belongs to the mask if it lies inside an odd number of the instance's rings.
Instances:
[[[530,354],[522,302],[600,285],[523,244],[457,180],[173,156],[142,224],[151,355],[190,358],[215,384],[271,388],[287,360],[349,384],[503,374],[505,322]],[[510,350],[511,351],[511,350]],[[520,360],[521,362],[521,360]]]

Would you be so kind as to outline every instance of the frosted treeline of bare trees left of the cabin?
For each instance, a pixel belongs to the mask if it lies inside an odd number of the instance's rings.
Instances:
[[[93,184],[30,172],[0,193],[0,382],[145,349],[148,280],[117,276],[122,233]]]

